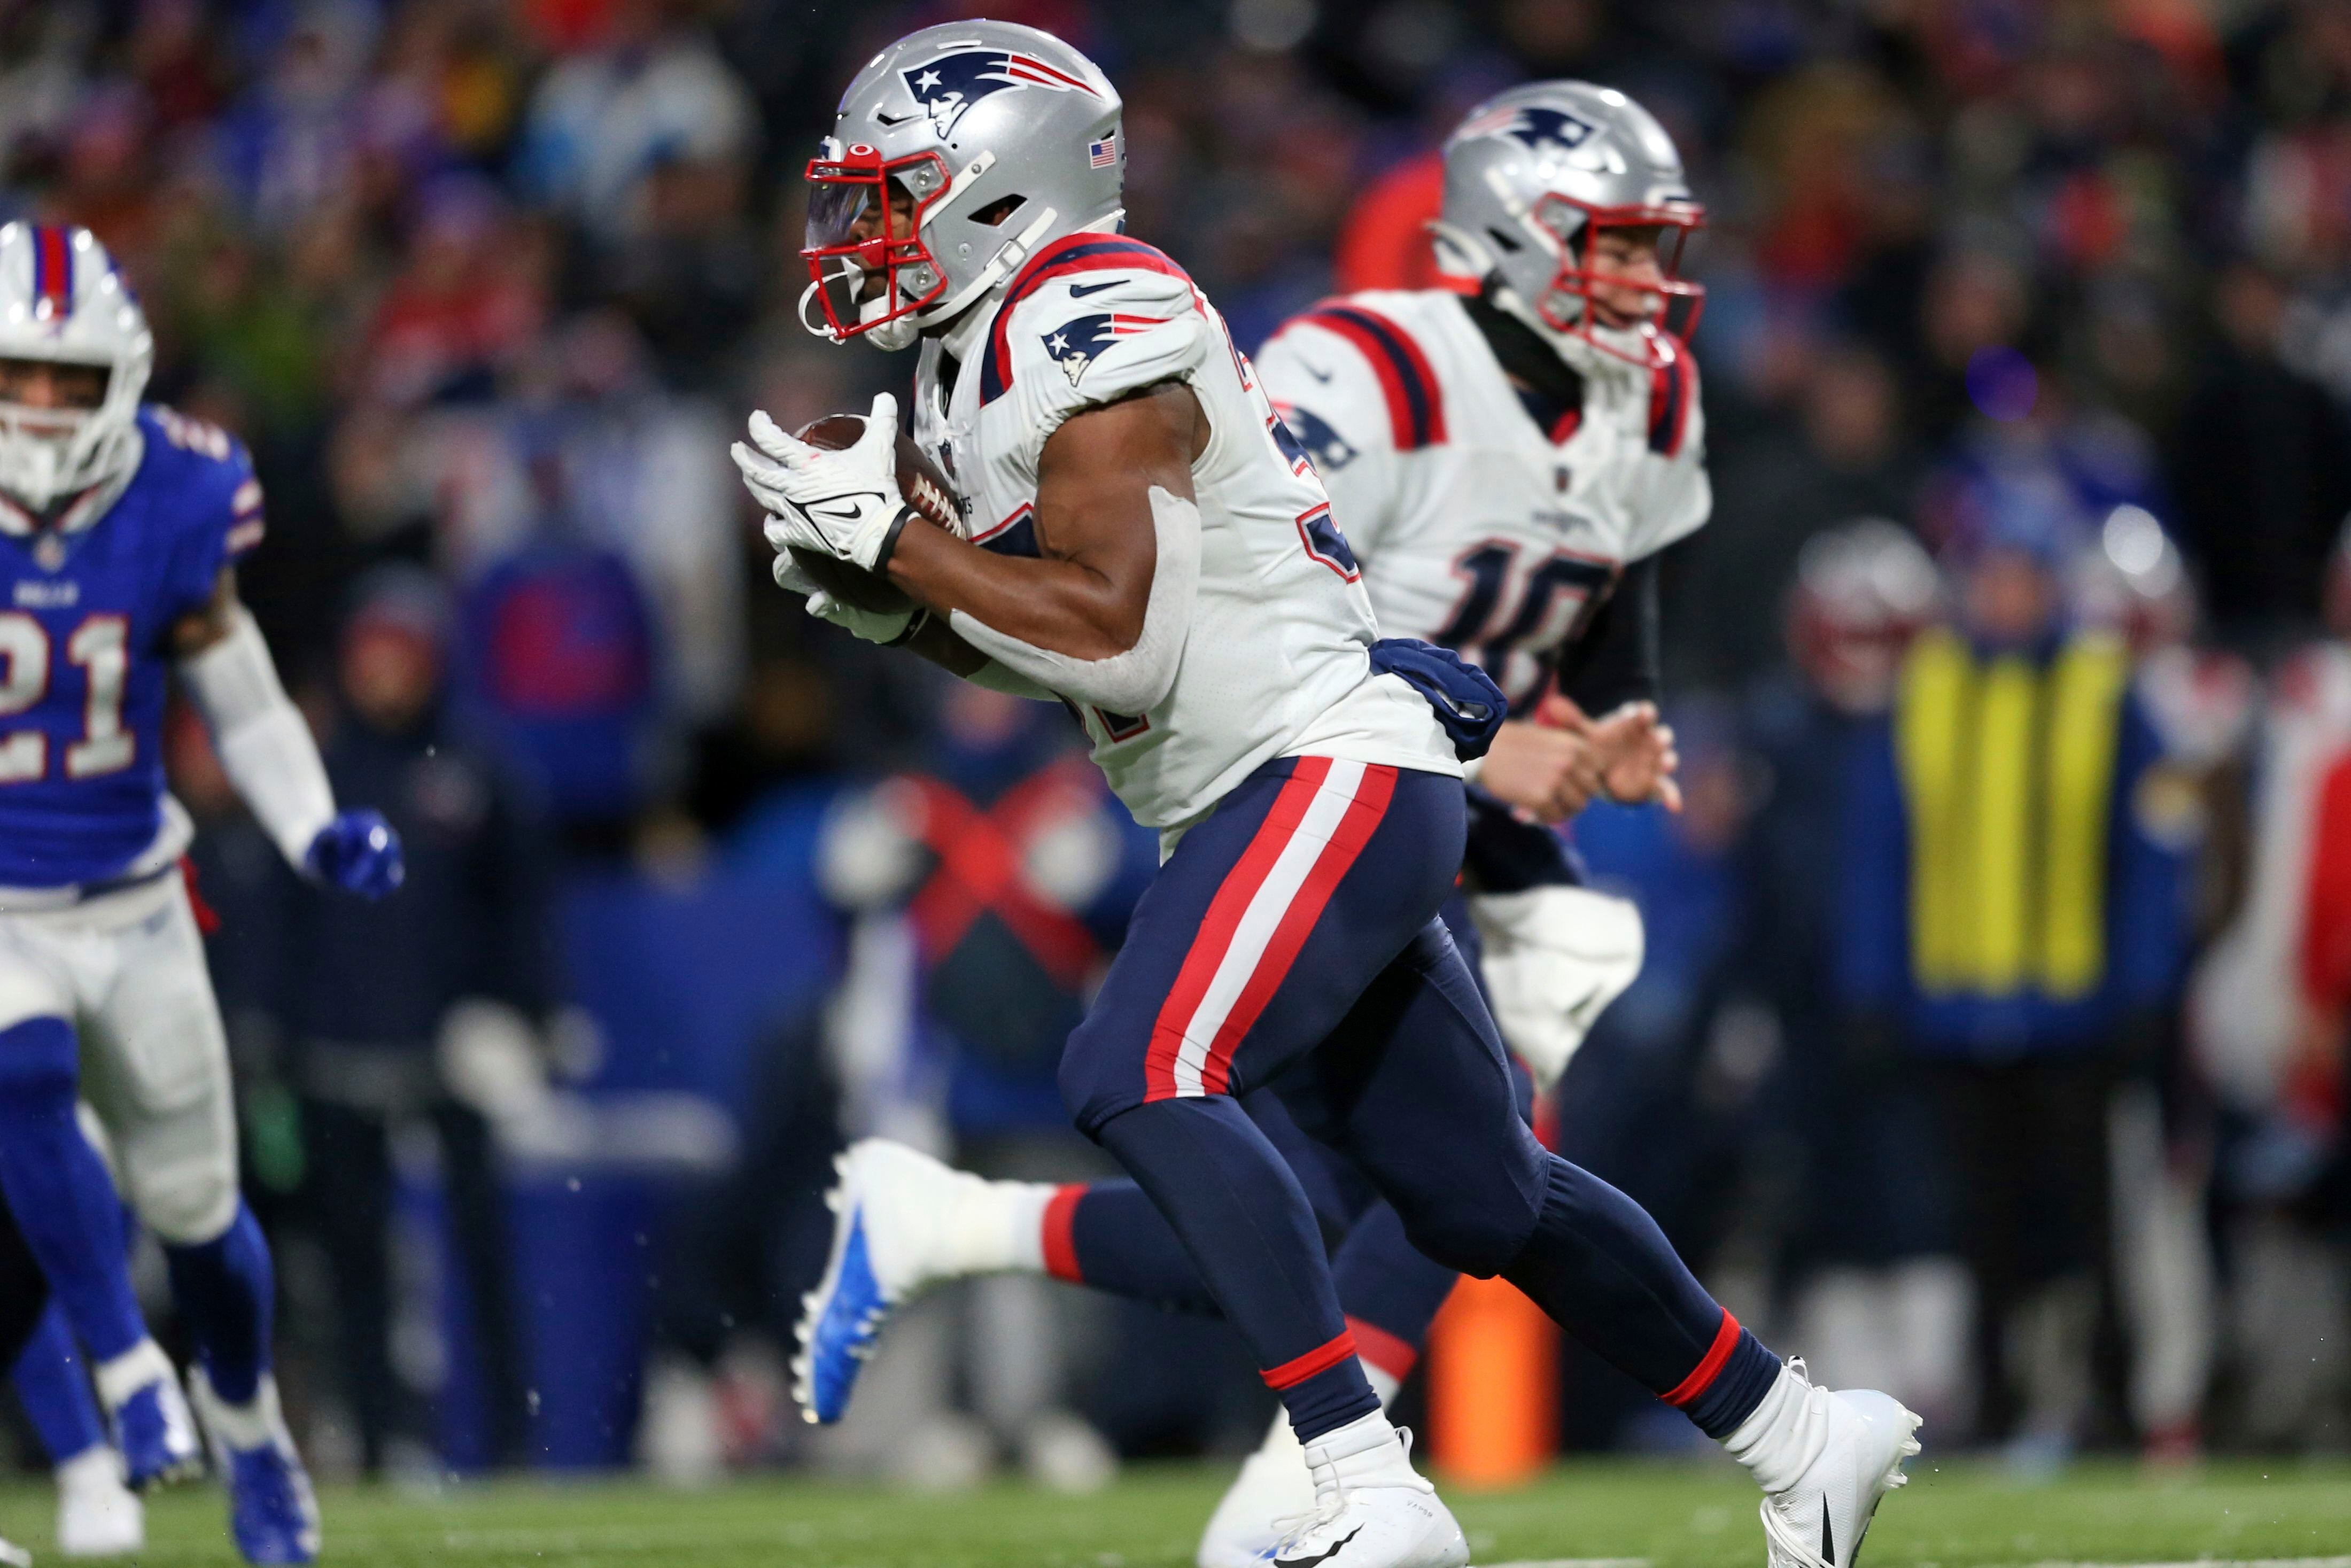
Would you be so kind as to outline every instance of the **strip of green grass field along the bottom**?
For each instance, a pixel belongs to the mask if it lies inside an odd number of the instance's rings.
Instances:
[[[1916,1465],[1916,1462],[1914,1462]],[[632,1481],[454,1488],[444,1497],[329,1488],[327,1561],[350,1568],[1185,1568],[1223,1467],[1128,1472],[1107,1493],[1020,1486],[907,1495],[802,1479],[717,1493]],[[1479,1563],[1648,1559],[1655,1568],[1763,1568],[1754,1490],[1728,1467],[1575,1465],[1516,1493],[1451,1493]],[[141,1563],[235,1563],[219,1493],[150,1509]],[[45,1568],[49,1493],[0,1488],[0,1535]],[[1982,1467],[1916,1465],[1869,1535],[1867,1568],[2344,1559],[2351,1467],[2215,1465],[2186,1476],[2083,1467],[2015,1486]]]

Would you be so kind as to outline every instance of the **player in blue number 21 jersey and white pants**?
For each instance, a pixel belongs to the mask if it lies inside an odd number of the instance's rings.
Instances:
[[[87,1098],[162,1241],[190,1375],[256,1563],[317,1556],[317,1505],[270,1380],[268,1246],[237,1197],[228,1051],[165,790],[176,672],[237,795],[303,875],[364,898],[400,839],[336,811],[235,559],[261,484],[226,433],[141,404],[146,317],[82,228],[0,228],[0,1190],[96,1371],[134,1486],[197,1467],[148,1335]]]

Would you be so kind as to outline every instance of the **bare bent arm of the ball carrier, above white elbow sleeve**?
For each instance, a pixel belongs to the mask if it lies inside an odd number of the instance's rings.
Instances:
[[[994,555],[943,529],[907,524],[889,559],[891,581],[933,609],[959,609],[1032,646],[1114,658],[1136,646],[1150,604],[1159,555],[1150,491],[1190,501],[1192,461],[1206,444],[1208,421],[1183,383],[1086,409],[1044,447],[1039,559]]]

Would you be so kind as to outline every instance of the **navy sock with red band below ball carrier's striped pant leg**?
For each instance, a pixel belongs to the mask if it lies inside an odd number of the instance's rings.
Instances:
[[[1098,1133],[1183,1239],[1300,1441],[1380,1408],[1298,1175],[1225,1095],[1152,1100]]]

